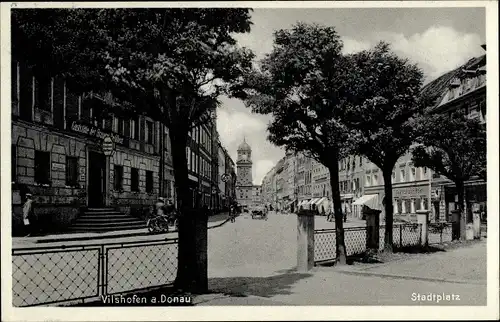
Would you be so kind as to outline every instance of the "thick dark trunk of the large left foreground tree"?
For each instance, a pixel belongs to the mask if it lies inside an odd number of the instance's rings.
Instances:
[[[177,277],[175,288],[205,293],[207,276],[207,216],[193,209],[186,160],[187,130],[171,129],[172,160],[180,211]]]

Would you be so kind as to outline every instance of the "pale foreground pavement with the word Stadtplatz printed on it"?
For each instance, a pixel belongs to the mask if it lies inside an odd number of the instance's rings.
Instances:
[[[405,260],[362,268],[315,267],[307,273],[277,270],[251,277],[242,272],[242,276],[211,278],[210,289],[221,295],[195,303],[486,305],[485,263],[486,242],[480,241],[446,252],[412,255]],[[434,300],[423,298],[428,295],[435,295]]]

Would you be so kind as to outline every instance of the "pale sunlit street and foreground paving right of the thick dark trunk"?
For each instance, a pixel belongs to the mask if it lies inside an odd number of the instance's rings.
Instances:
[[[316,227],[330,228],[324,218]],[[210,287],[235,297],[203,305],[484,305],[486,243],[355,271],[296,273],[296,217],[242,216],[209,233]],[[349,222],[347,227],[359,226]],[[458,282],[457,282],[458,280]],[[439,300],[439,296],[443,299]],[[454,296],[453,296],[454,295]],[[427,298],[434,300],[427,301]]]

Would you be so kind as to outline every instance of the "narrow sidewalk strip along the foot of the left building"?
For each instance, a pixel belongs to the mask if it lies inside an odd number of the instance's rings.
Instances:
[[[217,228],[224,225],[229,220],[228,213],[221,213],[211,216],[208,219],[208,229]],[[133,230],[117,230],[108,231],[103,233],[68,233],[68,234],[53,234],[46,236],[33,236],[33,237],[12,237],[13,248],[33,247],[40,246],[40,244],[60,244],[63,242],[79,242],[79,241],[93,241],[95,243],[104,243],[113,241],[128,241],[132,238],[174,238],[177,232],[169,232],[165,234],[151,234],[147,228],[133,229]]]

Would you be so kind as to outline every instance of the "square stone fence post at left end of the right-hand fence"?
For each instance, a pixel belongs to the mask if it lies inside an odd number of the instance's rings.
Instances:
[[[297,271],[307,272],[314,267],[314,212],[297,213]]]

